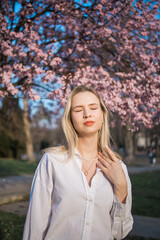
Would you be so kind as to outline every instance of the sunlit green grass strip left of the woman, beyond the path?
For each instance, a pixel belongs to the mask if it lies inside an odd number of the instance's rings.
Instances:
[[[37,164],[37,162],[0,159],[0,177],[34,173]]]

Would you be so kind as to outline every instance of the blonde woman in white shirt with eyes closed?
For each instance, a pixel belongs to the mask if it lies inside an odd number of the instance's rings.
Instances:
[[[92,88],[75,88],[62,126],[67,148],[49,148],[36,170],[23,240],[113,240],[132,229],[131,184],[108,147],[108,112]]]

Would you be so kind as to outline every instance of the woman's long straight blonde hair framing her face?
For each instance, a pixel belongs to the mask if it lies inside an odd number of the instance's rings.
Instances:
[[[81,92],[91,92],[93,93],[100,102],[100,107],[103,112],[103,124],[101,129],[98,132],[98,150],[105,152],[105,146],[110,145],[110,131],[109,131],[109,124],[108,124],[108,110],[98,94],[96,90],[86,85],[81,85],[73,89],[70,97],[68,98],[67,104],[64,109],[64,113],[62,116],[62,127],[63,131],[67,140],[67,151],[68,151],[68,159],[71,159],[74,155],[75,148],[78,145],[78,135],[74,126],[72,124],[71,119],[71,102],[73,96]]]

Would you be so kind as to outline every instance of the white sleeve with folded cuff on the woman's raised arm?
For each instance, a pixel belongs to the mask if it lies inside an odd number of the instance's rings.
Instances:
[[[127,168],[122,163],[122,168],[127,178],[128,195],[125,203],[120,203],[114,194],[113,207],[111,210],[112,236],[116,240],[121,240],[127,236],[133,227],[133,217],[131,215],[132,193],[131,182]]]

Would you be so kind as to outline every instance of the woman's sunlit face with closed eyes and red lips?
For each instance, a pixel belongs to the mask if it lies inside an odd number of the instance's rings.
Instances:
[[[102,127],[103,112],[96,95],[86,91],[73,96],[71,118],[79,136],[97,134]]]

